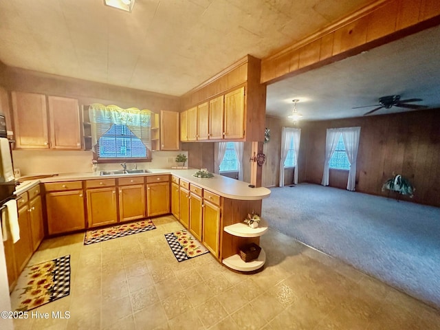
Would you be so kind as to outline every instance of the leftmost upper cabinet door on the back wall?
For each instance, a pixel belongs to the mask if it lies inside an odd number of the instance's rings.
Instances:
[[[12,91],[16,148],[49,148],[46,97]]]

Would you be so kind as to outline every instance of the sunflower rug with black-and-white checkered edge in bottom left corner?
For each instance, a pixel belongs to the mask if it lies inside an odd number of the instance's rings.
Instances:
[[[70,255],[25,267],[11,294],[12,309],[29,311],[69,296]]]

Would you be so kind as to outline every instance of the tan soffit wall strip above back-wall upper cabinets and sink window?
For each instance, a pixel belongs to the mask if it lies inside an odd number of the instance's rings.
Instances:
[[[138,89],[130,89],[87,80],[54,76],[25,69],[3,68],[0,85],[8,91],[28,91],[32,93],[77,98],[80,104],[94,102],[105,105],[115,104],[122,108],[137,107],[155,113],[161,110],[179,111],[180,100]]]

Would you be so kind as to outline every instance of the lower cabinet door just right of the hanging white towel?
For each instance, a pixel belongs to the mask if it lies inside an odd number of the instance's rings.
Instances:
[[[29,208],[27,205],[19,208],[20,239],[14,243],[15,271],[20,274],[28,263],[32,250],[32,234],[30,232]]]

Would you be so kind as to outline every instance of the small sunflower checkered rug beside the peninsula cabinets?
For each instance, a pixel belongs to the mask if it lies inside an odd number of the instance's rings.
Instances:
[[[170,232],[165,234],[165,238],[179,262],[208,253],[208,250],[188,230]]]

